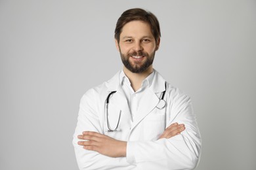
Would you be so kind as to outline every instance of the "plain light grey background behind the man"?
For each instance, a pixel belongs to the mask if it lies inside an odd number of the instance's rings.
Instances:
[[[256,2],[0,0],[0,169],[77,169],[79,100],[121,61],[124,10],[158,17],[154,67],[190,94],[202,134],[197,170],[256,167]]]

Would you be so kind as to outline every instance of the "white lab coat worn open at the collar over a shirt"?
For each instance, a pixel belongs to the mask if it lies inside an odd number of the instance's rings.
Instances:
[[[120,72],[108,82],[88,90],[81,98],[73,140],[79,169],[194,169],[200,158],[201,137],[190,97],[167,83],[167,105],[164,109],[156,108],[165,90],[165,80],[156,71],[152,85],[142,96],[137,118],[133,121],[119,75]],[[112,129],[116,127],[120,110],[121,117],[119,131],[109,132],[105,102],[112,91],[117,91],[110,97],[108,109]],[[175,122],[186,127],[181,135],[158,140],[165,127]],[[77,144],[77,135],[82,131],[96,131],[127,141],[126,158],[110,158],[83,149]]]

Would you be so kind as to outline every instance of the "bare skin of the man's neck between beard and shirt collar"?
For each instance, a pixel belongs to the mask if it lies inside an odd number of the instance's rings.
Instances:
[[[129,71],[126,67],[123,67],[123,72],[129,78],[133,90],[137,92],[142,84],[142,81],[153,72],[153,67],[152,65],[150,65],[150,67],[148,67],[148,69],[146,69],[146,71],[142,73],[133,73]]]

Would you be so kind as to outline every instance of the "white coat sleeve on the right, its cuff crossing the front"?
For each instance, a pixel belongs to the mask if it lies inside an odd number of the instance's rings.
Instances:
[[[178,122],[186,129],[181,135],[157,141],[129,141],[127,162],[158,169],[194,169],[200,159],[201,137],[190,97],[175,94],[167,106],[168,124]],[[149,129],[150,130],[150,129]]]

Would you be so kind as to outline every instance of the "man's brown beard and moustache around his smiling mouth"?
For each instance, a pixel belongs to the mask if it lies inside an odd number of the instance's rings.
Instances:
[[[156,51],[154,51],[151,55],[149,55],[147,52],[133,52],[129,53],[127,55],[122,54],[120,51],[121,60],[123,62],[123,65],[132,73],[143,73],[152,65],[154,61]],[[130,56],[144,56],[146,59],[145,61],[135,61],[135,63],[131,63],[129,61]]]

